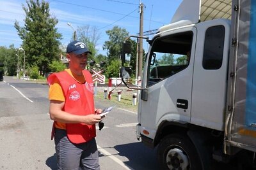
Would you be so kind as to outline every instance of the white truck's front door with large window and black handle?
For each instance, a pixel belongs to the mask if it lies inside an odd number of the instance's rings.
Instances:
[[[195,27],[187,27],[165,32],[152,43],[142,84],[148,97],[141,98],[138,115],[140,132],[148,138],[154,138],[163,120],[190,121],[195,41]]]

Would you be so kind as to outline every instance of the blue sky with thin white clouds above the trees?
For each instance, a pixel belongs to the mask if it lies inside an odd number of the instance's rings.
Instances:
[[[143,32],[145,32],[170,24],[182,0],[45,0],[45,2],[49,3],[51,16],[58,19],[56,28],[62,34],[60,41],[63,46],[67,46],[72,40],[72,34],[77,27],[90,25],[96,27],[100,34],[96,46],[98,53],[106,55],[106,50],[102,49],[104,42],[108,41],[106,31],[117,25],[126,29],[129,35],[137,35],[140,32],[140,3],[145,6],[143,10]],[[14,27],[15,20],[21,27],[24,26],[26,15],[22,4],[27,7],[26,0],[0,0],[0,46],[8,48],[13,44],[15,48],[20,48],[22,45],[22,40]],[[68,22],[72,27],[67,24]],[[143,48],[147,51],[148,45],[144,43]]]

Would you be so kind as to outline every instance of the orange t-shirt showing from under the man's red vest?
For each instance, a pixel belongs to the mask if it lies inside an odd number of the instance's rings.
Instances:
[[[77,76],[76,74],[72,74],[70,69],[65,69],[72,77],[76,79],[77,82],[83,84],[85,82],[84,76]],[[49,100],[55,101],[63,101],[65,102],[65,94],[63,94],[63,90],[61,89],[60,82],[58,79],[54,80],[54,83],[49,87]],[[55,127],[58,129],[66,129],[66,124],[61,122],[56,122]]]

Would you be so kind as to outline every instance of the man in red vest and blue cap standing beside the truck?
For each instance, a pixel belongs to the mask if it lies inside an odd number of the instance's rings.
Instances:
[[[92,75],[84,70],[88,53],[84,43],[72,41],[69,69],[47,78],[58,169],[100,169],[95,124],[102,110],[94,108]]]

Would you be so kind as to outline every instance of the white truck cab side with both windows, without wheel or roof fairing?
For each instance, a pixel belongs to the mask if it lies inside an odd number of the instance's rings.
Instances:
[[[230,20],[171,27],[156,34],[145,62],[139,134],[154,139],[164,121],[223,131]]]

